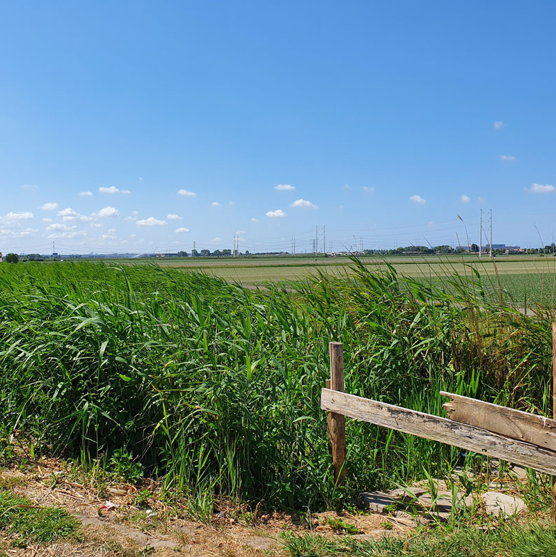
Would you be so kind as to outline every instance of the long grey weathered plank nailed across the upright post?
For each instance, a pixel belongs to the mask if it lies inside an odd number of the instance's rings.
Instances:
[[[556,475],[556,453],[448,418],[322,389],[321,408]]]

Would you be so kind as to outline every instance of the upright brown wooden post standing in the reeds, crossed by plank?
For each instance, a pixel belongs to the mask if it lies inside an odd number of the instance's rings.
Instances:
[[[344,392],[344,351],[342,343],[329,343],[330,350],[330,389]],[[332,466],[334,480],[339,484],[344,480],[346,471],[343,469],[346,461],[346,416],[328,412],[328,439],[332,444]]]

